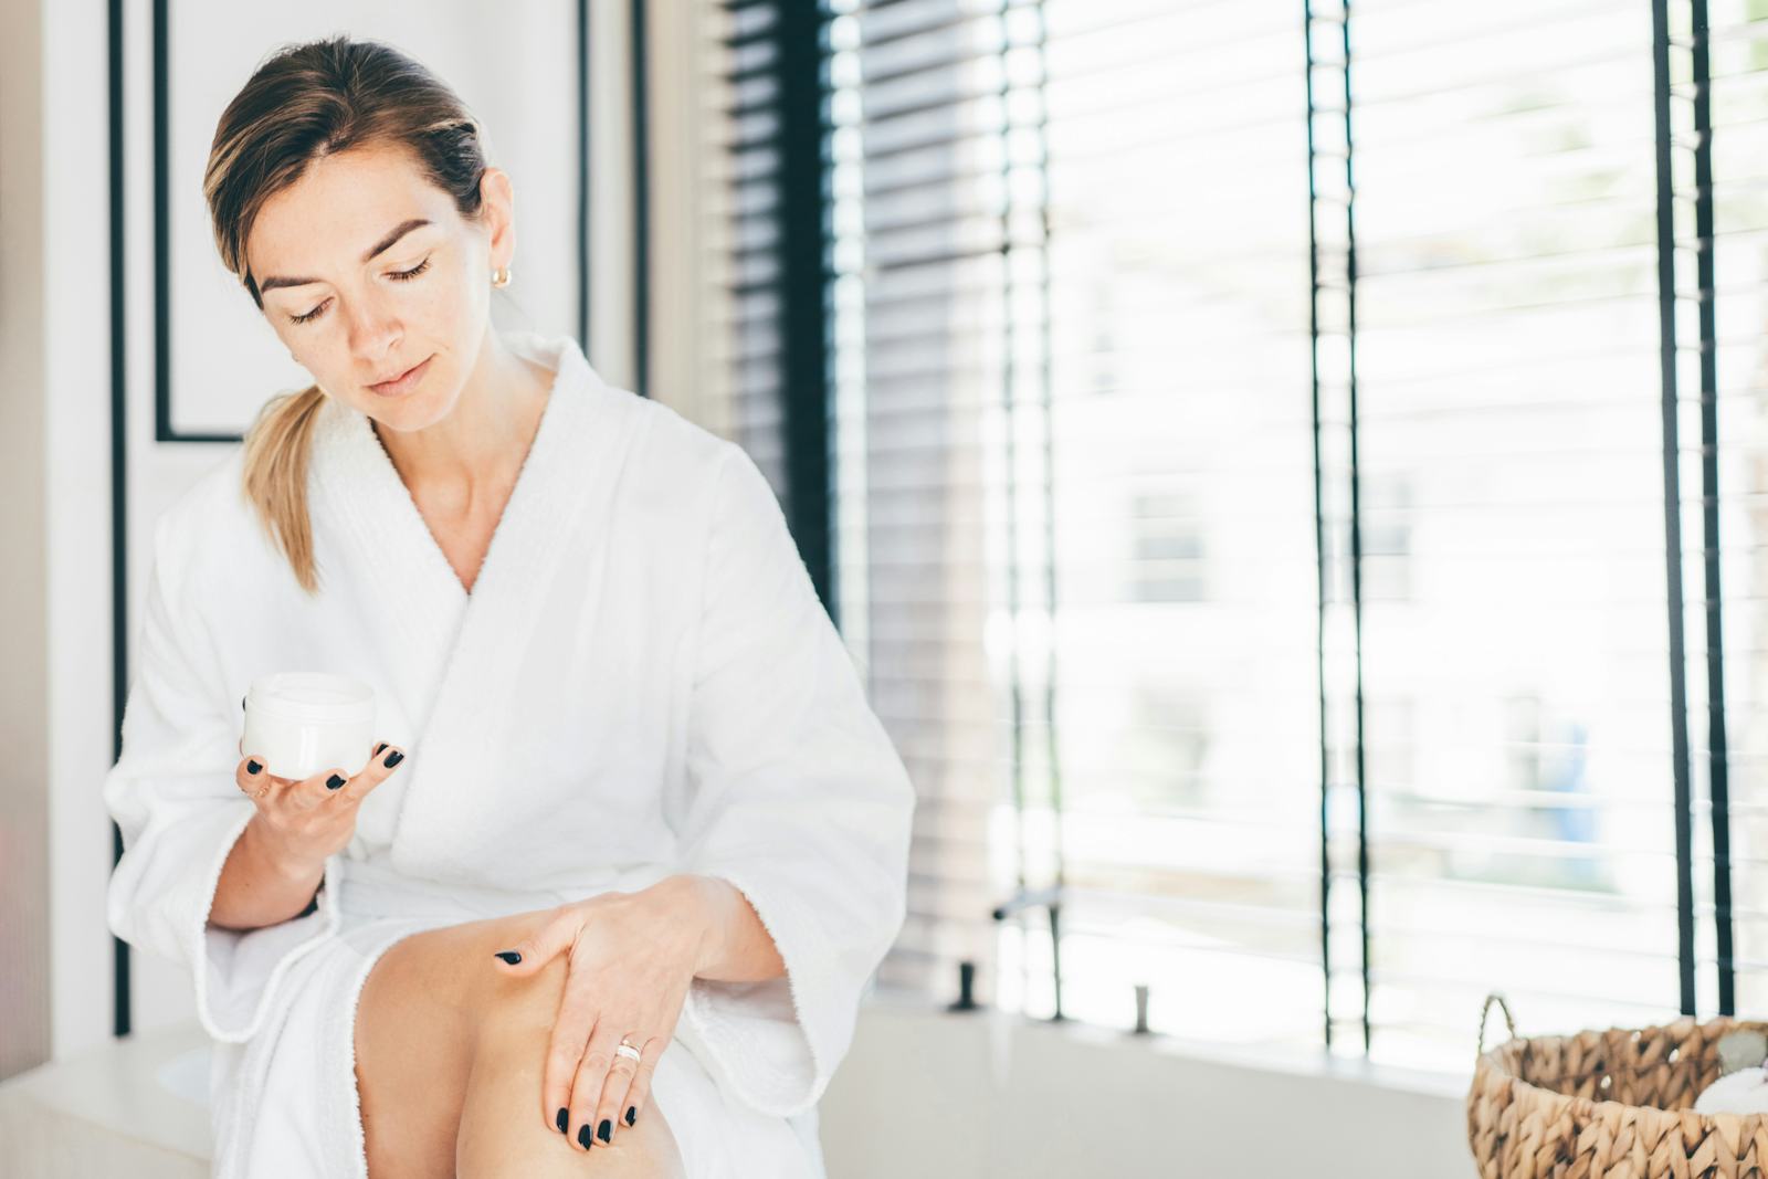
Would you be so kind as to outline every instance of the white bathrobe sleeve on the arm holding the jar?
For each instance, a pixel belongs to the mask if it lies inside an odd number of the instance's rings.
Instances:
[[[106,917],[136,949],[189,967],[203,1031],[244,1043],[263,1025],[288,967],[338,930],[339,857],[325,863],[316,910],[260,930],[209,928],[221,866],[256,806],[233,780],[244,718],[226,705],[232,689],[200,672],[210,636],[186,608],[187,557],[179,551],[193,537],[168,520],[154,529],[122,757],[104,778],[104,806],[124,843]]]

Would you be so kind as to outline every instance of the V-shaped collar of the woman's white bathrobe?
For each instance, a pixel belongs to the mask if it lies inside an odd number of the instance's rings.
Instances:
[[[497,698],[486,677],[514,673],[507,645],[525,638],[523,626],[539,596],[555,585],[555,564],[566,544],[560,534],[612,500],[619,461],[628,449],[636,394],[608,385],[571,336],[506,332],[506,343],[555,369],[552,394],[516,477],[504,514],[492,534],[472,592],[447,562],[424,523],[405,481],[361,410],[327,398],[315,422],[308,502],[322,592],[357,596],[366,642],[375,643],[403,711],[407,732],[430,772],[410,774],[400,804],[394,845],[414,850],[417,813],[412,790],[440,765],[465,769],[495,757],[467,749],[484,725],[474,704]],[[327,566],[339,566],[338,590],[325,587]],[[502,652],[502,658],[500,654]],[[490,696],[486,693],[492,693]],[[419,771],[419,765],[412,765]],[[431,847],[458,845],[458,836],[433,831]]]

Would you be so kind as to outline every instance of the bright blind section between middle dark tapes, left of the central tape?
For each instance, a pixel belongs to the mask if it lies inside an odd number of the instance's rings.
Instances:
[[[1317,1045],[1303,25],[1041,14],[1068,1006],[1124,1025],[1147,985],[1155,1031]]]

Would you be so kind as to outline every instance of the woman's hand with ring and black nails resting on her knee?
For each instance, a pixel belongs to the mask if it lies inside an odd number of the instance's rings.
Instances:
[[[677,880],[560,905],[497,955],[497,969],[518,977],[559,955],[569,958],[541,1108],[557,1110],[552,1130],[578,1145],[591,1137],[612,1142],[615,1126],[638,1119],[658,1057],[675,1034],[704,940],[700,910]],[[638,1061],[615,1052],[621,1038],[638,1048]]]

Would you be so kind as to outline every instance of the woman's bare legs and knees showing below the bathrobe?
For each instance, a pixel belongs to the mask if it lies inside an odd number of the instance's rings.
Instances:
[[[414,933],[375,963],[357,1004],[357,1089],[371,1179],[605,1175],[677,1179],[675,1135],[651,1094],[635,1126],[585,1151],[543,1119],[541,1059],[566,963],[527,979],[492,955],[548,912]],[[573,1128],[575,1130],[575,1128]]]

